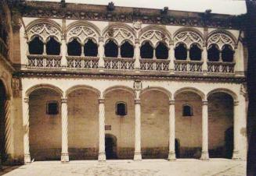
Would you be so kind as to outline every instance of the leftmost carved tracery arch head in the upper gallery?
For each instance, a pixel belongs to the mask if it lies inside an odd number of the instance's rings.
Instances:
[[[62,30],[58,23],[51,19],[35,19],[26,27],[28,41],[39,37],[43,42],[47,42],[49,37],[54,37],[60,43]]]

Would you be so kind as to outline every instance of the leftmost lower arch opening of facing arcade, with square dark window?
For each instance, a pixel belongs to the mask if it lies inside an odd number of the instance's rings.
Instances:
[[[60,160],[61,95],[39,88],[29,94],[30,153],[33,160]]]

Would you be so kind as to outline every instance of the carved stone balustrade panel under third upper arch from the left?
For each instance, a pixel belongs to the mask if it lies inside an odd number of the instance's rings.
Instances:
[[[132,70],[134,65],[134,58],[104,58],[104,69]]]

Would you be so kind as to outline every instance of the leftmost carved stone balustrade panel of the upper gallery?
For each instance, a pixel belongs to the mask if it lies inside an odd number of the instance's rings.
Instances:
[[[60,55],[27,55],[27,67],[34,69],[60,69]]]

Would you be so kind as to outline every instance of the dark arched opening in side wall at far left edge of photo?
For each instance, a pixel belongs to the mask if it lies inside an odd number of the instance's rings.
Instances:
[[[6,138],[5,138],[5,103],[7,95],[5,86],[0,80],[0,162],[4,163],[7,160],[7,153],[5,148]],[[1,164],[0,164],[1,165]]]

